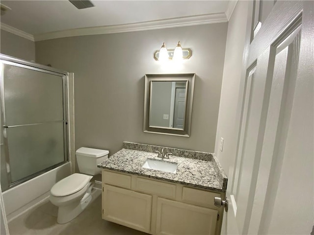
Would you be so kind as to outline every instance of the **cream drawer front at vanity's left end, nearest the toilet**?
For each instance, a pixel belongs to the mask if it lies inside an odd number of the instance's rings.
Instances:
[[[122,188],[131,188],[131,176],[111,171],[103,171],[103,184],[115,185]]]

